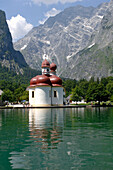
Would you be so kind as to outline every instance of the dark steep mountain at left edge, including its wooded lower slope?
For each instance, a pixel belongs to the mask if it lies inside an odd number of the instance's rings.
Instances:
[[[0,10],[0,81],[29,84],[40,71],[31,69],[23,55],[14,50],[5,12]]]

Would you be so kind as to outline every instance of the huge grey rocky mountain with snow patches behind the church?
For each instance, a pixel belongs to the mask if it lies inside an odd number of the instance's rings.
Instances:
[[[14,44],[31,68],[54,58],[58,74],[81,79],[112,75],[113,0],[97,8],[76,6],[50,17]]]

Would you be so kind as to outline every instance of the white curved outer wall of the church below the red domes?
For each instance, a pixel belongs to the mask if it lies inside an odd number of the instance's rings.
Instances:
[[[52,98],[49,91],[52,89]],[[32,98],[34,91],[34,98]],[[57,97],[54,97],[54,91],[57,91]],[[29,89],[29,103],[31,106],[63,105],[63,87],[39,86]]]

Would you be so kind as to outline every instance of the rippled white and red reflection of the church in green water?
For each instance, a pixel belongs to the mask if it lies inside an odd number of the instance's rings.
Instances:
[[[55,149],[62,141],[64,126],[63,109],[30,109],[30,137],[41,145],[41,151]]]

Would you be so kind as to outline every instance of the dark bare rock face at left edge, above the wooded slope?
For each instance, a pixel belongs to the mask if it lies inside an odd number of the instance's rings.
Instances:
[[[6,22],[5,13],[0,10],[0,64],[8,67],[9,70],[23,73],[27,66],[23,55],[15,51],[12,44],[12,37]]]

